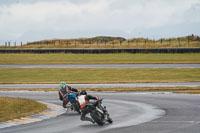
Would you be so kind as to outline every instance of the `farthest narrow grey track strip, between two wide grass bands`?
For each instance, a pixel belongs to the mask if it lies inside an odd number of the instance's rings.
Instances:
[[[49,64],[0,65],[0,68],[200,68],[200,64]]]

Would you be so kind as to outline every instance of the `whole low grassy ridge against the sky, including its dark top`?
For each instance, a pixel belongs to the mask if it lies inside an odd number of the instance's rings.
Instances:
[[[200,47],[200,37],[189,35],[178,38],[149,38],[97,36],[92,38],[51,39],[27,42],[26,45],[13,48],[194,48]],[[4,47],[6,48],[6,47]]]

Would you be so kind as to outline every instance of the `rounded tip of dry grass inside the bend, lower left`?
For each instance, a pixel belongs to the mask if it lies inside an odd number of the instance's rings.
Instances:
[[[33,100],[0,97],[0,122],[37,114],[46,108],[46,105]]]

